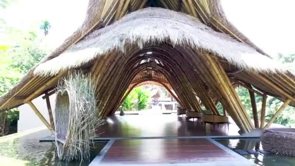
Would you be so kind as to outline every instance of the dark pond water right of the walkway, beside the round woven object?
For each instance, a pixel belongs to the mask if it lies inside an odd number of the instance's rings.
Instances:
[[[262,149],[260,139],[222,139],[216,140],[230,149],[258,150]],[[258,166],[295,166],[295,157],[276,154],[245,154],[243,155]]]

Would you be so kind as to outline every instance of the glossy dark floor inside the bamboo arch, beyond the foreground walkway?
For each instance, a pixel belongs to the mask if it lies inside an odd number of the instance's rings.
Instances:
[[[236,125],[221,124],[219,127],[201,125],[197,119],[187,121],[176,114],[145,114],[111,116],[98,128],[100,137],[161,137],[161,136],[204,136],[204,135],[239,135]]]

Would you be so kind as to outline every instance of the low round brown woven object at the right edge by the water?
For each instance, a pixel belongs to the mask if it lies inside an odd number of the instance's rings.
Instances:
[[[279,155],[295,156],[295,129],[267,129],[262,137],[262,147]]]

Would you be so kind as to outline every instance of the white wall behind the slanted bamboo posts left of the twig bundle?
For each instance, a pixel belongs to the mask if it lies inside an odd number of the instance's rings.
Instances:
[[[46,100],[43,100],[42,96],[34,99],[32,102],[50,124]],[[55,98],[56,98],[55,94],[49,97],[52,110],[54,110],[54,107],[55,107]],[[19,120],[17,122],[17,132],[22,132],[22,131],[33,129],[36,127],[45,127],[43,122],[33,112],[30,105],[24,104],[22,106],[19,106],[18,109],[19,109]]]

